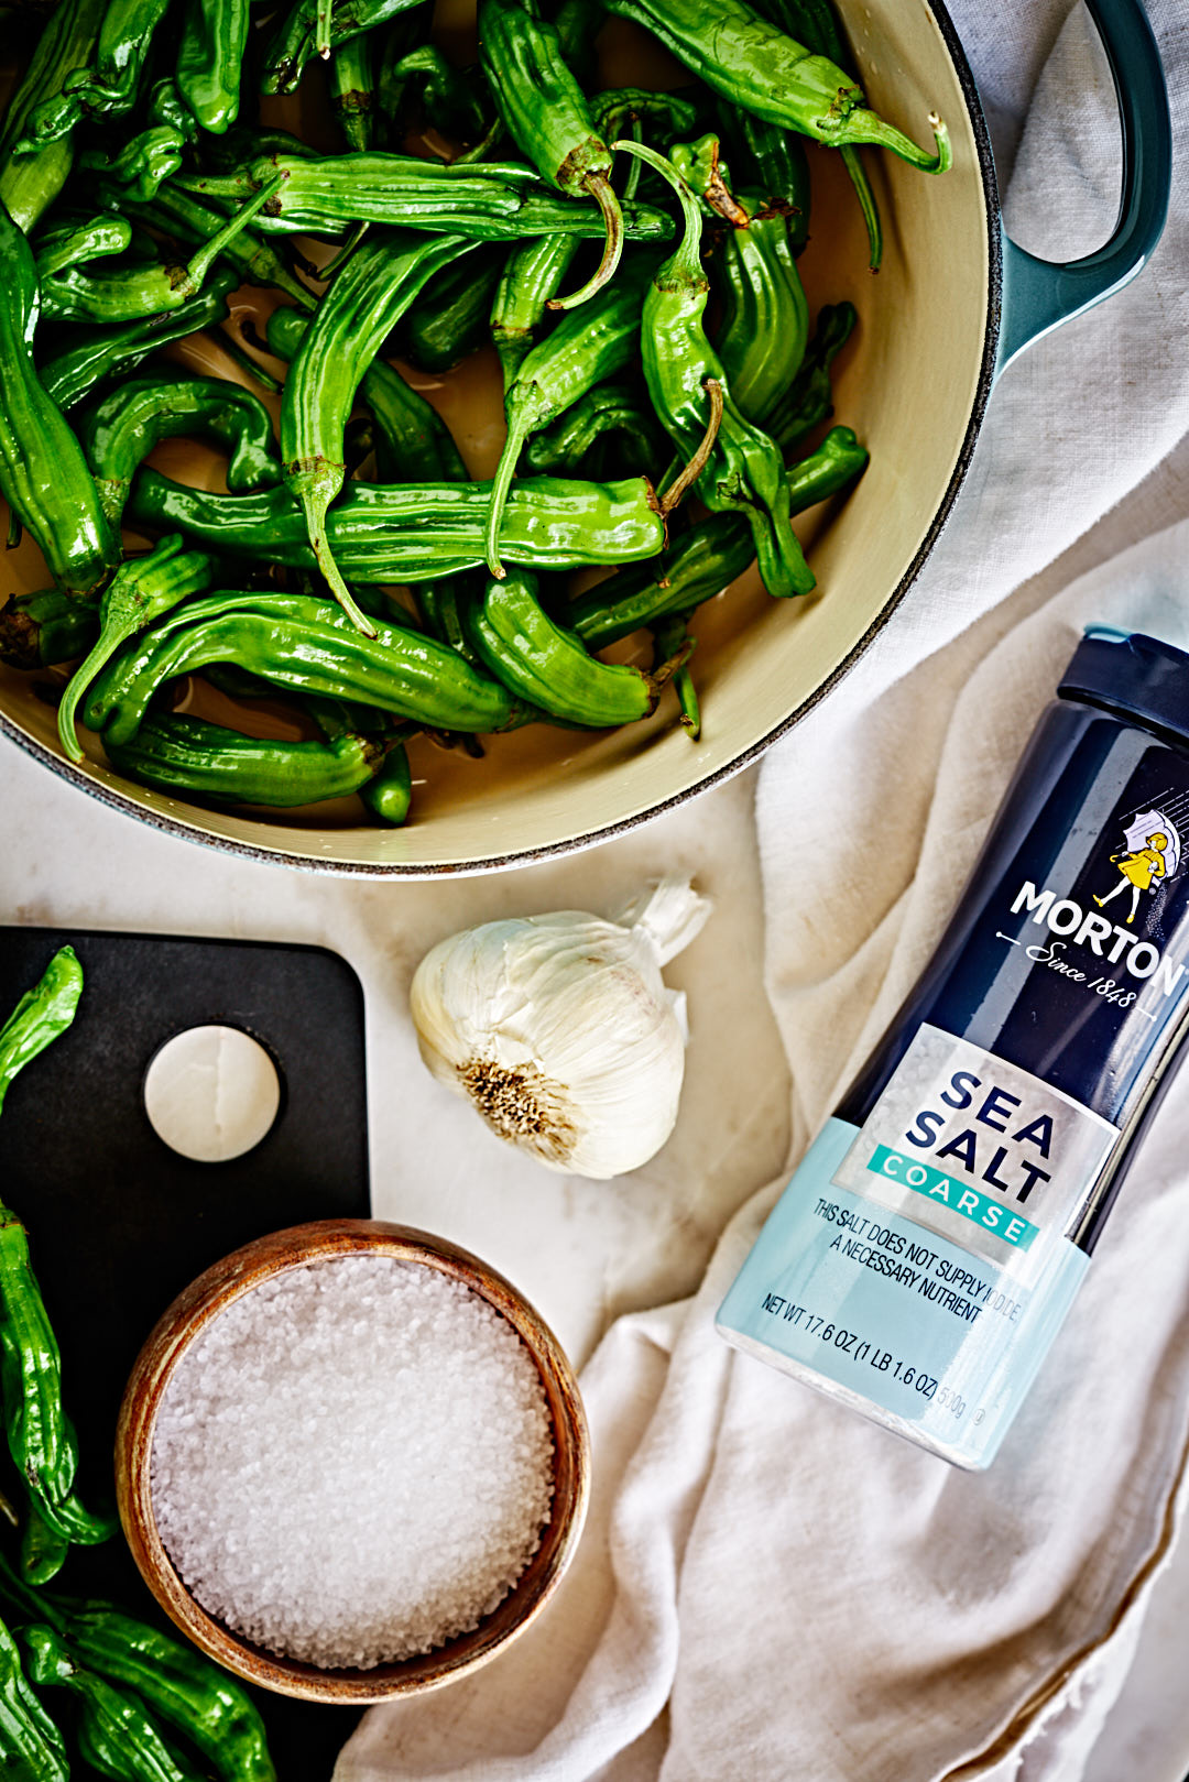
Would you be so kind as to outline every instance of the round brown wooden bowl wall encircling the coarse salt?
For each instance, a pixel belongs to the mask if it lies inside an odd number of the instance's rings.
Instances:
[[[540,1547],[499,1607],[467,1634],[433,1652],[376,1664],[371,1670],[319,1670],[299,1659],[266,1652],[191,1597],[164,1549],[153,1516],[150,1463],[157,1413],[173,1372],[214,1319],[262,1281],[328,1256],[392,1256],[439,1269],[463,1281],[496,1308],[529,1351],[553,1418],[553,1511]],[[307,1702],[383,1702],[396,1695],[437,1689],[488,1659],[537,1620],[574,1556],[590,1492],[590,1442],[578,1381],[556,1336],[510,1281],[444,1238],[378,1219],[324,1219],[257,1238],[225,1256],[185,1288],[159,1320],[137,1356],[125,1388],[116,1431],[116,1493],[119,1518],[144,1582],[166,1614],[196,1647],[262,1689]]]

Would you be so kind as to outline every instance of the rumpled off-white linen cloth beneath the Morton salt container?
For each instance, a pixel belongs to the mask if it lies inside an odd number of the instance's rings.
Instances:
[[[1027,246],[1084,251],[1118,182],[1086,16],[954,12],[1005,127],[995,32],[1052,45],[1009,217]],[[1189,32],[1177,0],[1152,14],[1184,143]],[[765,763],[793,1158],[936,946],[1080,627],[1189,647],[1187,269],[1178,191],[1150,271],[1002,380],[913,595]],[[337,1782],[1075,1782],[1180,1522],[1187,1158],[1189,1080],[984,1475],[718,1342],[784,1176],[759,1190],[697,1296],[620,1319],[585,1370],[594,1509],[547,1614],[472,1680],[373,1709]]]

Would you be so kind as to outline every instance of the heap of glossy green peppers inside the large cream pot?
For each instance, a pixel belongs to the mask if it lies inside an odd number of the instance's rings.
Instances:
[[[868,109],[831,0],[478,0],[474,66],[431,11],[18,12],[0,494],[48,584],[0,609],[0,659],[75,665],[50,683],[75,761],[84,725],[168,797],[358,795],[403,823],[417,734],[481,754],[526,723],[638,722],[672,681],[697,740],[693,611],[752,560],[777,599],[815,588],[791,520],[866,451],[822,429],[856,317],[809,315],[804,143],[841,155],[877,266],[859,150],[943,173],[945,125],[922,148]],[[685,84],[606,89],[608,14]],[[305,82],[328,82],[340,153],[266,123]],[[232,326],[244,285],[275,292],[266,340]],[[235,374],[160,358],[203,331]],[[401,367],[492,347],[508,438],[480,483]],[[225,456],[226,494],[144,467],[176,437]],[[599,656],[636,631],[647,666]],[[278,702],[285,741],[258,734]]]

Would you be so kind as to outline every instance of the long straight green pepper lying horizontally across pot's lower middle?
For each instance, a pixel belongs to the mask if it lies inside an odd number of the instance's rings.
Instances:
[[[412,583],[474,568],[485,558],[490,490],[490,483],[349,483],[326,515],[326,542],[342,572],[358,581]],[[283,490],[212,495],[141,470],[127,511],[128,524],[182,531],[250,561],[316,567],[305,519]],[[535,570],[635,563],[663,544],[665,522],[647,478],[521,478],[499,535],[504,560]]]

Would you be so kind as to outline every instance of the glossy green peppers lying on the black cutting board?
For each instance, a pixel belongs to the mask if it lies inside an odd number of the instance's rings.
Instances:
[[[70,946],[0,1028],[0,1108],[12,1078],[70,1028],[82,966]],[[0,1205],[0,1397],[20,1488],[4,1499],[20,1524],[18,1565],[0,1554],[0,1775],[68,1782],[73,1743],[93,1773],[114,1782],[276,1782],[264,1721],[241,1686],[191,1647],[109,1602],[46,1591],[73,1543],[116,1531],[73,1488],[75,1431],[62,1406],[62,1365],[29,1238]],[[73,1711],[59,1725],[59,1689]]]

